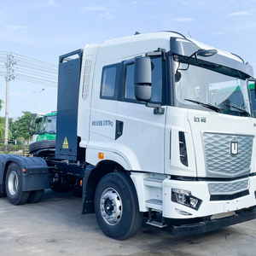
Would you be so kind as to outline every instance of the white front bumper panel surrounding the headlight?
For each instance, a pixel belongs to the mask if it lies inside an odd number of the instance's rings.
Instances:
[[[247,186],[242,190],[234,190],[230,192],[230,198],[224,199],[222,195],[228,193],[225,192],[225,189],[234,187],[234,183],[242,183],[245,179],[235,180],[230,182],[219,182],[221,185],[224,185],[224,192],[221,193],[220,199],[211,200],[211,196],[215,194],[209,190],[209,182],[205,181],[181,181],[181,180],[172,180],[165,179],[163,182],[163,217],[172,218],[172,219],[188,219],[188,218],[202,218],[207,216],[212,216],[220,213],[227,213],[233,211],[239,211],[241,209],[247,210],[256,206],[256,176],[247,177]],[[218,185],[218,182],[215,182]],[[178,204],[175,201],[172,201],[172,189],[184,189],[189,190],[191,195],[195,196],[198,199],[201,199],[201,206],[198,210],[192,209],[191,207]],[[247,194],[243,195],[244,190],[247,191]],[[242,192],[241,196],[232,198],[233,195],[239,195],[237,192]],[[215,192],[215,191],[213,191]],[[187,215],[184,215],[182,212],[187,212]]]

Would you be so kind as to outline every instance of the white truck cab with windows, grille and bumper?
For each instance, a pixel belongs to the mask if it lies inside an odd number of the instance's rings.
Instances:
[[[90,165],[131,173],[140,212],[210,220],[255,206],[250,65],[174,32],[86,45],[83,55],[79,146]]]

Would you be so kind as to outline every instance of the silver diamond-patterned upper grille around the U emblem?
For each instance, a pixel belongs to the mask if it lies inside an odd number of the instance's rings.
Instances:
[[[236,140],[238,153],[230,154],[230,143]],[[203,133],[207,177],[238,177],[250,173],[253,136]]]

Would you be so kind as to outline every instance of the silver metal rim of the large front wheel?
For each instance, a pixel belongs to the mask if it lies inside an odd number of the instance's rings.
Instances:
[[[105,189],[100,200],[102,218],[109,225],[119,223],[122,216],[122,201],[115,189]]]

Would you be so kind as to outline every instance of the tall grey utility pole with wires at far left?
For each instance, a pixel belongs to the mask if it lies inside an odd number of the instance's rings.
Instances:
[[[15,69],[12,67],[16,64],[13,55],[7,55],[6,65],[6,99],[5,99],[5,126],[4,126],[4,145],[8,144],[9,135],[9,81],[15,80]]]

